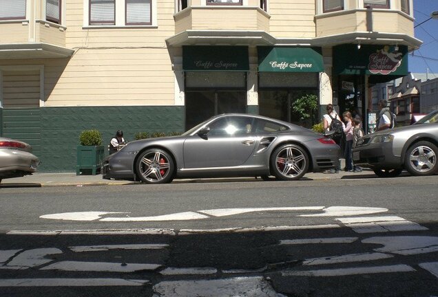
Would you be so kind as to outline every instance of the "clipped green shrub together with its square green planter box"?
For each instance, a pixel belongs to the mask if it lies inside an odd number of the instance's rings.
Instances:
[[[105,150],[102,144],[102,135],[96,129],[84,130],[79,135],[81,145],[77,147],[76,175],[81,175],[84,170],[91,170],[96,175],[105,159]]]

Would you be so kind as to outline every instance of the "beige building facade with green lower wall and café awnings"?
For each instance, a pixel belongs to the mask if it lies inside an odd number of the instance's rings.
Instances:
[[[0,135],[72,171],[84,129],[182,132],[244,112],[311,126],[366,119],[407,73],[412,0],[0,0]],[[406,73],[405,73],[406,72]],[[296,100],[316,98],[303,119]],[[313,96],[313,97],[312,97]],[[306,97],[307,98],[307,97]]]

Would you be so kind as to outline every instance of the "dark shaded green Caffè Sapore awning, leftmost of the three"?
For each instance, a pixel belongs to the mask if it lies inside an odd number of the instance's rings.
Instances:
[[[249,71],[247,46],[183,46],[184,71]]]

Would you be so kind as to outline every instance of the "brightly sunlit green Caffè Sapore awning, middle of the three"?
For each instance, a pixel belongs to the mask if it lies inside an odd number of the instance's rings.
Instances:
[[[257,47],[259,72],[324,72],[320,47]]]

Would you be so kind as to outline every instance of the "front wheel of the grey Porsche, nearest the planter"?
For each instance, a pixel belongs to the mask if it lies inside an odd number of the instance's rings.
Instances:
[[[146,184],[167,184],[174,179],[174,171],[174,159],[159,148],[143,151],[137,158],[137,175]]]

